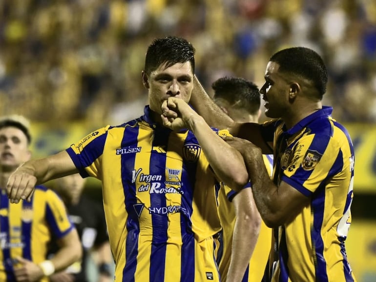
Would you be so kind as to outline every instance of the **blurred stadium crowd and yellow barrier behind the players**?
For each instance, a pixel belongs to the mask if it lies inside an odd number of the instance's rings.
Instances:
[[[0,0],[0,113],[32,121],[34,157],[138,117],[146,48],[166,35],[192,42],[209,94],[224,75],[261,87],[284,47],[323,57],[324,104],[355,144],[348,255],[358,282],[376,281],[375,0]],[[100,201],[98,188],[86,192]]]

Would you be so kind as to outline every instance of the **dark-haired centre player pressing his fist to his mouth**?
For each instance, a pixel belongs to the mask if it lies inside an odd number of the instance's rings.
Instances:
[[[17,203],[35,183],[77,172],[101,180],[116,282],[220,281],[216,183],[240,189],[249,176],[240,153],[219,136],[228,131],[210,128],[188,105],[194,52],[182,38],[153,40],[142,71],[145,115],[27,161],[8,181]]]

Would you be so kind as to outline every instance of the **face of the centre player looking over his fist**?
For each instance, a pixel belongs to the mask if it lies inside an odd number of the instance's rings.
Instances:
[[[193,90],[193,73],[189,61],[170,67],[160,65],[148,76],[149,105],[151,110],[162,114],[163,101],[176,97],[188,102]]]

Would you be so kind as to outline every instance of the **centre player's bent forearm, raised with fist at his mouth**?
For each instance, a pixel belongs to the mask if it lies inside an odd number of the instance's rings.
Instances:
[[[188,123],[216,175],[234,190],[243,188],[249,178],[241,154],[223,141],[201,116],[195,115]]]

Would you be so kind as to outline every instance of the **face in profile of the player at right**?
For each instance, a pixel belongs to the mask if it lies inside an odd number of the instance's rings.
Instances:
[[[290,83],[278,72],[279,65],[269,62],[265,71],[265,83],[260,89],[265,101],[265,115],[269,118],[283,118],[289,113]]]

